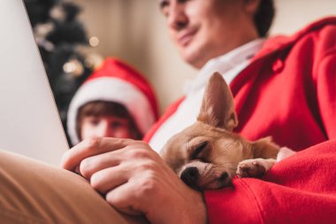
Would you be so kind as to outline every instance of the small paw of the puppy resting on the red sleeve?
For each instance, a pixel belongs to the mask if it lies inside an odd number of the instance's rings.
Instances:
[[[237,167],[237,176],[244,177],[260,177],[270,169],[269,163],[263,158],[252,158],[241,161]]]

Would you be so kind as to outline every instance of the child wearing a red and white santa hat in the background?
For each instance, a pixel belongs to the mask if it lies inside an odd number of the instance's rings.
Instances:
[[[73,144],[91,136],[139,140],[157,116],[157,100],[149,82],[119,59],[106,58],[74,95],[67,130]]]

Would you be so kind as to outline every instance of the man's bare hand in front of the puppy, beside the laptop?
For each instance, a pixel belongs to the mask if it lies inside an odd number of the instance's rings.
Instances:
[[[91,138],[65,152],[62,166],[70,171],[79,167],[121,212],[143,213],[151,223],[206,223],[202,193],[181,182],[147,143]]]

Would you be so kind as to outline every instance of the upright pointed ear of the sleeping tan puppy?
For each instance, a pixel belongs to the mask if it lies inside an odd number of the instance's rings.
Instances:
[[[233,95],[220,73],[214,73],[205,88],[197,120],[228,131],[238,125]]]

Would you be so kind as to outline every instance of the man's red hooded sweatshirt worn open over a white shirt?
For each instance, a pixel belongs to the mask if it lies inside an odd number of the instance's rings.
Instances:
[[[248,140],[271,135],[300,152],[262,179],[234,178],[232,187],[205,191],[210,224],[336,223],[336,18],[269,39],[230,87],[236,132]]]

